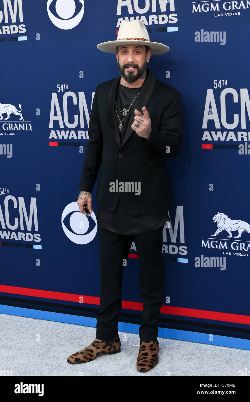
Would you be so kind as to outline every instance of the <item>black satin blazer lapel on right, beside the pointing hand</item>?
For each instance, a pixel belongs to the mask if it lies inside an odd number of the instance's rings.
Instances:
[[[150,99],[150,96],[152,95],[152,92],[154,90],[154,85],[156,82],[156,79],[154,76],[150,73],[150,70],[147,68],[147,76],[142,84],[142,88],[140,90],[139,95],[136,98],[136,101],[134,103],[134,107],[132,109],[128,125],[122,140],[122,144],[120,145],[120,148],[125,144],[126,141],[128,141],[130,135],[134,132],[134,130],[131,128],[131,125],[133,124],[134,121],[134,110],[137,109],[142,113],[142,107],[146,106],[148,103],[148,100]],[[120,78],[120,77],[119,77]],[[115,96],[115,95],[114,95]],[[113,100],[113,110],[114,110],[114,100]],[[119,135],[119,133],[118,133]]]

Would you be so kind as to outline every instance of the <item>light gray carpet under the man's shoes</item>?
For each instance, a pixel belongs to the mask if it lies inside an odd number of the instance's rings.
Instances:
[[[140,339],[129,332],[119,332],[120,353],[71,365],[67,357],[87,347],[96,337],[96,328],[36,318],[0,314],[0,334],[0,370],[13,376],[238,376],[239,370],[250,370],[250,351],[158,337],[159,363],[139,373]]]

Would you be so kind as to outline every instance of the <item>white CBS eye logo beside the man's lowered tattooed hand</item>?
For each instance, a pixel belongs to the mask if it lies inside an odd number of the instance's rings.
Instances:
[[[87,217],[81,213],[76,201],[71,202],[63,209],[61,221],[63,232],[71,242],[87,244],[96,236],[96,215],[92,212],[91,216]]]

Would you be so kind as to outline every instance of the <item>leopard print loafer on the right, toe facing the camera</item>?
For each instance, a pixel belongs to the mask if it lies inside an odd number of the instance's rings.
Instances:
[[[138,371],[148,371],[158,363],[159,342],[140,341],[140,349],[137,357],[136,368]]]

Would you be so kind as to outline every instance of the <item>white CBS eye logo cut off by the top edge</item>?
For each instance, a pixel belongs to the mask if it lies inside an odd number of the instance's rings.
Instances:
[[[72,29],[79,24],[83,17],[84,1],[47,0],[47,12],[49,19],[57,28]]]

